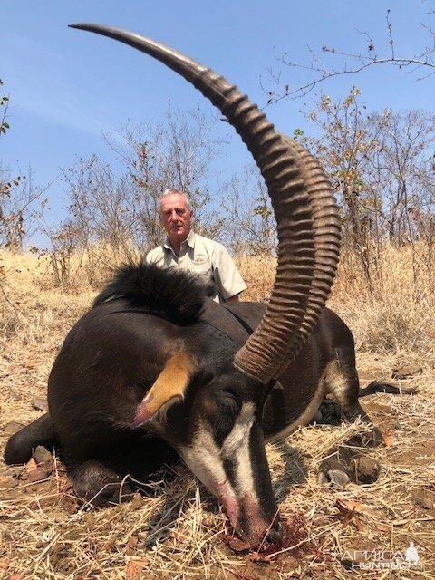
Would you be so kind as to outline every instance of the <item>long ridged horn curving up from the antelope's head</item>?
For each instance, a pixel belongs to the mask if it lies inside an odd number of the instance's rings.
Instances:
[[[340,223],[319,163],[275,131],[247,96],[211,69],[164,44],[101,24],[72,24],[127,43],[191,82],[227,117],[256,160],[275,211],[278,266],[266,313],[236,353],[236,366],[261,382],[278,377],[312,332],[338,263]]]

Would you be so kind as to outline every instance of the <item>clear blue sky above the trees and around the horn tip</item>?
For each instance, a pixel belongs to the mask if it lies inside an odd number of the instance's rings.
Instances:
[[[48,190],[56,213],[63,206],[60,168],[91,153],[111,159],[103,131],[118,131],[130,120],[158,121],[169,108],[192,109],[205,100],[162,64],[121,43],[67,28],[97,22],[126,28],[173,46],[236,83],[251,100],[266,103],[261,87],[272,87],[268,69],[291,85],[306,76],[282,68],[276,56],[310,62],[308,47],[323,43],[346,52],[363,52],[362,34],[372,34],[379,53],[388,51],[385,16],[391,22],[398,56],[418,53],[430,43],[421,23],[435,28],[433,0],[2,0],[0,78],[10,95],[10,131],[0,140],[0,161],[34,171],[34,181],[54,183]],[[433,40],[432,40],[433,43]],[[388,66],[324,83],[322,90],[345,96],[354,83],[371,110],[392,107],[433,110],[435,76]],[[320,90],[320,87],[319,87]],[[304,100],[280,102],[266,110],[283,132],[311,131],[300,112]],[[211,106],[209,107],[211,111]],[[218,131],[218,130],[217,130]],[[225,127],[227,131],[227,127]],[[223,179],[249,160],[235,136],[219,160]]]

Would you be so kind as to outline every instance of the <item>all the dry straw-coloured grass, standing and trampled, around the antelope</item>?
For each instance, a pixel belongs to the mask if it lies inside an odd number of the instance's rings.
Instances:
[[[290,549],[270,562],[256,562],[255,555],[229,549],[226,518],[187,469],[165,469],[143,497],[99,509],[73,498],[57,461],[40,482],[31,481],[29,469],[1,466],[0,578],[435,578],[434,299],[423,281],[410,277],[407,256],[385,260],[390,264],[382,271],[385,295],[381,289],[376,295],[364,291],[358,276],[349,277],[352,265],[343,262],[331,301],[356,335],[362,382],[389,378],[398,362],[423,367],[410,381],[420,387],[416,396],[364,400],[392,438],[389,447],[372,451],[382,464],[375,484],[331,489],[316,480],[328,450],[361,425],[309,426],[268,445],[275,495],[295,536]],[[46,264],[37,266],[33,256],[2,255],[0,262],[7,265],[9,300],[0,302],[1,430],[10,420],[40,416],[31,401],[45,394],[55,353],[94,292],[84,282],[80,292],[76,286],[69,294],[50,288]],[[252,258],[239,265],[249,285],[247,298],[266,297],[275,265]],[[7,437],[0,435],[4,445]],[[341,562],[350,549],[403,554],[410,541],[419,549],[420,569],[360,571]]]

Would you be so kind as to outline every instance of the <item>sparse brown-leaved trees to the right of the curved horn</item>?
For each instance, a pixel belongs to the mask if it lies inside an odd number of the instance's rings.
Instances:
[[[414,257],[417,241],[425,240],[427,251],[433,246],[435,115],[369,113],[360,97],[356,87],[343,101],[323,95],[305,111],[322,136],[296,131],[295,137],[322,160],[342,208],[343,247],[358,256],[372,285],[372,266],[386,240],[411,244]]]

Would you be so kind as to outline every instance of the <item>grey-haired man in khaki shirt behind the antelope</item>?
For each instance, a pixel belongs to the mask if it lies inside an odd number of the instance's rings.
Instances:
[[[192,210],[188,197],[178,189],[166,189],[160,198],[160,224],[168,237],[150,250],[145,260],[164,268],[181,267],[216,286],[213,299],[235,302],[247,288],[227,249],[191,230]]]

